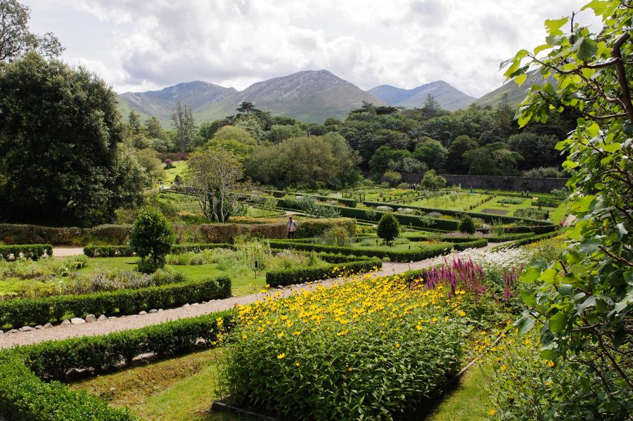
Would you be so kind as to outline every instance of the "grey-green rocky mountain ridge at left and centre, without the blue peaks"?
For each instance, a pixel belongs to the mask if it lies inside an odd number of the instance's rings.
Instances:
[[[155,115],[168,125],[177,101],[191,106],[196,122],[210,122],[234,115],[243,101],[252,102],[255,107],[273,115],[293,117],[302,122],[347,117],[350,110],[359,108],[363,101],[388,105],[327,70],[307,70],[257,82],[243,91],[207,82],[187,82],[161,91],[122,93],[119,95],[119,109],[123,115],[130,110],[145,117]]]

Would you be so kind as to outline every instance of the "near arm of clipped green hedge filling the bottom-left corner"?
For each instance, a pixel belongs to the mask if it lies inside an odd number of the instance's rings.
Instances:
[[[42,382],[14,351],[0,353],[0,415],[10,421],[136,421],[85,391]]]

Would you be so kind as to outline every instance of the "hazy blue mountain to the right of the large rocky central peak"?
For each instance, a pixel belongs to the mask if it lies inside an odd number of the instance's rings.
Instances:
[[[390,105],[406,108],[422,107],[424,101],[426,101],[426,97],[430,94],[435,98],[435,101],[440,103],[442,108],[449,111],[466,108],[477,99],[455,89],[443,80],[420,85],[414,89],[402,89],[390,85],[381,85],[367,92],[390,103]]]

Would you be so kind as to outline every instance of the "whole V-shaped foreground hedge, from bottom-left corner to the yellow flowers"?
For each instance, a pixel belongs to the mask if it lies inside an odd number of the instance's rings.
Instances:
[[[222,319],[222,328],[217,320]],[[20,346],[0,352],[0,415],[17,421],[136,421],[126,409],[109,407],[84,391],[57,381],[72,369],[99,372],[151,352],[159,357],[182,354],[234,326],[234,312],[221,311],[109,335],[79,337]]]

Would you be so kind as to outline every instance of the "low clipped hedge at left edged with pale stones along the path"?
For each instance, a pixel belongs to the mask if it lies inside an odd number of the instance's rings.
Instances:
[[[231,280],[223,276],[136,290],[7,299],[0,301],[0,326],[19,328],[24,325],[43,325],[52,320],[62,320],[68,315],[122,316],[143,310],[172,308],[191,302],[228,297],[231,297]]]

